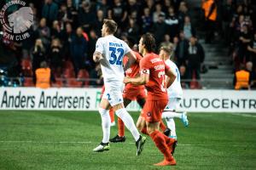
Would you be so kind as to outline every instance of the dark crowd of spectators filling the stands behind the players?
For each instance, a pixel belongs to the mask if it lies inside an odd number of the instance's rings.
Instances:
[[[253,1],[211,1],[203,7],[207,26],[206,42],[214,40],[214,30],[223,27],[225,42],[236,54],[237,65],[251,61],[255,70],[255,10]],[[207,2],[206,1],[206,2]],[[1,1],[0,6],[8,2]],[[101,37],[103,19],[113,19],[119,25],[117,37],[130,37],[135,43],[146,32],[154,34],[157,49],[172,48],[181,78],[200,79],[205,53],[197,41],[197,27],[192,10],[182,0],[44,0],[26,1],[32,8],[34,22],[28,31],[30,38],[22,42],[1,41],[0,66],[8,77],[25,77],[23,84],[32,86],[33,77],[42,61],[47,61],[58,86],[102,85],[99,65],[92,61],[96,40]],[[205,0],[202,0],[204,3]],[[250,3],[252,2],[252,3]],[[203,5],[202,5],[203,6]],[[212,8],[212,10],[210,10]],[[217,11],[214,12],[214,9]],[[11,9],[10,9],[11,10]],[[15,8],[13,9],[15,10]],[[210,11],[210,12],[209,12]],[[210,13],[210,14],[209,14]],[[216,14],[214,14],[216,13]],[[215,18],[211,15],[216,15]],[[218,26],[221,25],[221,26]],[[2,31],[3,28],[0,28]],[[254,32],[254,40],[251,35]],[[236,35],[236,36],[233,36]],[[247,48],[250,46],[250,48]],[[235,56],[235,55],[234,55]],[[254,56],[254,57],[253,57]],[[7,66],[8,65],[8,66]],[[67,78],[74,81],[67,82]],[[78,82],[90,78],[92,81]],[[2,84],[8,82],[3,82]],[[5,84],[8,86],[8,84]],[[183,82],[183,88],[189,83]]]

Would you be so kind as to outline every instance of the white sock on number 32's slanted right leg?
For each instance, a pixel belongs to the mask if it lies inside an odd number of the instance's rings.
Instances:
[[[120,119],[125,123],[125,127],[127,127],[135,141],[140,138],[140,133],[137,131],[137,127],[135,126],[131,115],[125,110],[125,108],[119,109],[115,111],[115,114],[119,116]]]

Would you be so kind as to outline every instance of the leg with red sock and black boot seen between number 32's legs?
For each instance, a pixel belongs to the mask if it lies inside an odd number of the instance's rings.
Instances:
[[[131,103],[131,99],[124,98],[124,105],[125,107]],[[125,142],[125,123],[118,117],[118,128],[119,133],[113,137],[113,139],[109,139],[110,142],[117,143],[117,142]]]

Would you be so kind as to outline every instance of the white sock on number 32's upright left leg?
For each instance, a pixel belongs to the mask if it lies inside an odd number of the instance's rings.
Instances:
[[[102,143],[108,143],[109,136],[110,136],[110,116],[109,116],[109,110],[105,110],[100,108],[99,112],[102,117],[102,131],[103,131],[103,139]]]

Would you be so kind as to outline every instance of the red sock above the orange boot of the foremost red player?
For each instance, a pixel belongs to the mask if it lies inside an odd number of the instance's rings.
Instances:
[[[160,133],[158,130],[155,130],[153,133],[150,134],[151,139],[153,139],[154,144],[156,147],[164,154],[167,161],[172,161],[173,157],[169,148],[166,145],[166,140],[163,137],[164,134]]]

